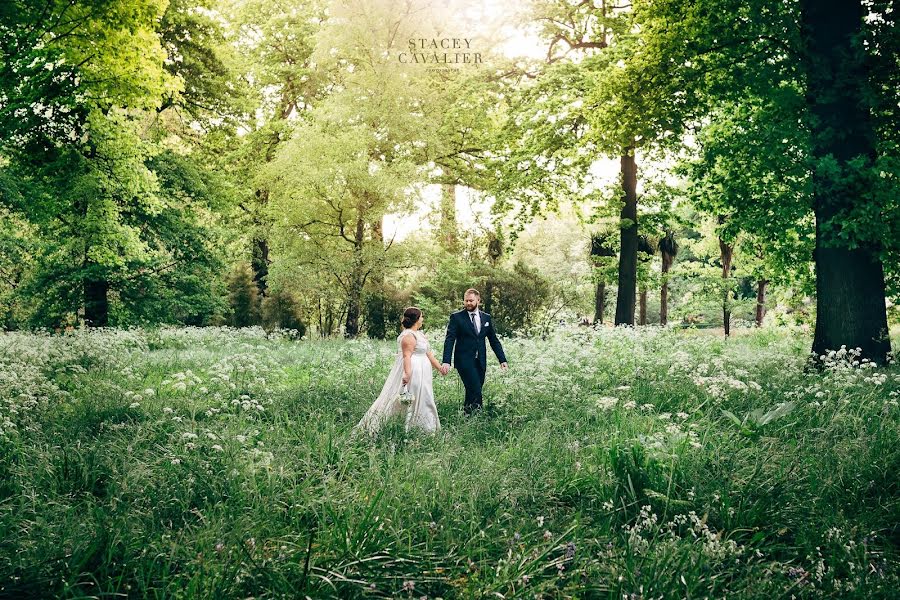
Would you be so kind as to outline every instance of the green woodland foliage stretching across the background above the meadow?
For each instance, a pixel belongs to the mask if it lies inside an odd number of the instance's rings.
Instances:
[[[705,240],[679,238],[682,316],[714,321],[729,290],[746,308],[754,279],[801,306],[815,198],[835,205],[822,242],[877,253],[896,313],[895,4],[866,5],[853,57],[874,152],[844,160],[814,152],[810,107],[831,100],[808,93],[802,3],[534,0],[515,25],[535,28],[543,60],[499,56],[476,0],[4,3],[4,328],[221,322],[226,265],[252,247],[258,288],[286,294],[270,295],[267,326],[332,334],[353,321],[352,335],[390,337],[411,294],[436,318],[460,288],[490,282],[505,333],[547,331],[592,312],[597,282],[612,290],[617,240],[590,260],[584,245],[589,230],[631,224],[621,181],[603,186],[597,161],[632,149],[638,233]],[[476,33],[484,68],[397,60],[411,37]],[[459,263],[427,249],[427,227],[414,243],[386,239],[388,217],[411,214],[428,183],[483,192],[504,215],[486,227],[519,248],[464,248]],[[703,229],[700,213],[722,226]],[[718,236],[736,244],[733,279],[716,276]],[[642,259],[639,286],[655,292],[658,254]],[[88,314],[89,289],[105,290],[108,314]]]

